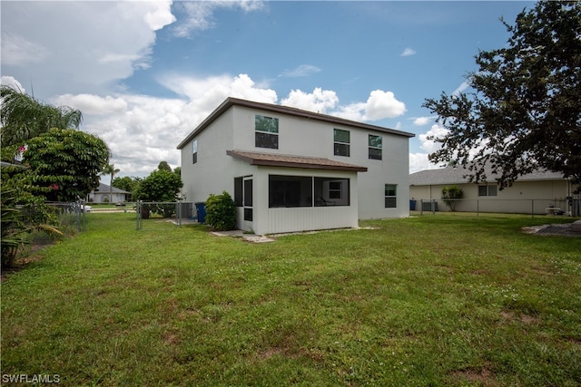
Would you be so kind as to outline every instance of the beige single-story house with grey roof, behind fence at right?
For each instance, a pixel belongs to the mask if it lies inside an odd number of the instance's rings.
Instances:
[[[486,170],[487,181],[468,182],[468,169],[448,167],[421,170],[409,175],[409,198],[416,200],[417,208],[430,210],[431,205],[421,201],[435,199],[438,210],[448,210],[442,201],[442,189],[458,186],[464,198],[457,211],[503,212],[524,214],[553,214],[571,211],[576,186],[563,174],[538,171],[521,176],[512,187],[500,190],[495,175]],[[578,197],[578,196],[577,196]]]

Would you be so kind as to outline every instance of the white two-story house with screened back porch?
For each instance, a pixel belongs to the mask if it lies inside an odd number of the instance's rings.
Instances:
[[[409,216],[413,134],[281,105],[226,101],[178,145],[182,196],[227,191],[256,234]]]

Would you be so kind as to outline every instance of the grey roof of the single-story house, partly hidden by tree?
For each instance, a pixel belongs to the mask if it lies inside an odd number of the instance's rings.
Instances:
[[[492,169],[485,169],[487,181],[496,181],[497,175],[492,173]],[[440,184],[468,184],[468,176],[471,172],[463,167],[447,167],[444,169],[425,169],[409,175],[409,185],[411,186],[433,186]],[[517,179],[517,181],[533,180],[558,180],[564,179],[562,173],[551,171],[536,171],[528,173]],[[485,181],[481,181],[485,182]]]

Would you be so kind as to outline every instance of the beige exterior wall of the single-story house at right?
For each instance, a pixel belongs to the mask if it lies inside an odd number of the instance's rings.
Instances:
[[[456,210],[467,212],[545,214],[549,206],[568,211],[566,197],[571,196],[570,184],[562,179],[517,181],[512,187],[498,190],[497,196],[478,196],[478,186],[484,183],[412,186],[409,197],[417,200],[418,210],[420,199],[434,198],[438,209],[447,211],[448,206],[441,200],[442,189],[452,185],[464,190],[464,199],[458,203]]]

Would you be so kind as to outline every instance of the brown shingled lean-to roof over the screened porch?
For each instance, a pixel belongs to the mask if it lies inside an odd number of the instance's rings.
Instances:
[[[324,158],[291,156],[273,153],[249,152],[246,150],[226,150],[228,156],[234,159],[243,160],[251,165],[307,168],[307,169],[331,169],[347,170],[354,172],[366,172],[367,167],[348,164],[346,162],[334,161]]]

